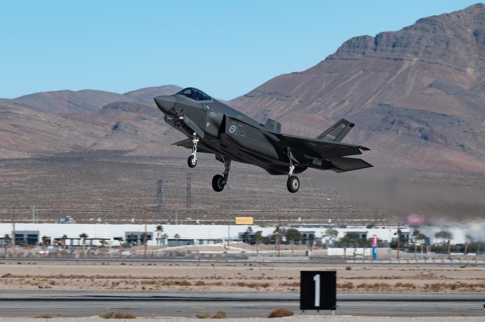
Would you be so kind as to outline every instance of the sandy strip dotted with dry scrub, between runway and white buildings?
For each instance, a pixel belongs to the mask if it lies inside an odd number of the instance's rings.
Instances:
[[[485,292],[474,265],[35,262],[0,264],[0,290],[299,291],[301,270],[336,270],[339,291]]]

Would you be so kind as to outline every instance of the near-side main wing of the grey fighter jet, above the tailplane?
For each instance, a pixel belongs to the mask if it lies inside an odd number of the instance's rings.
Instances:
[[[339,157],[345,157],[349,155],[362,154],[362,151],[368,151],[369,148],[337,143],[337,142],[326,142],[317,139],[303,138],[298,136],[292,136],[287,134],[274,134],[279,142],[278,146],[281,148],[292,147],[292,153],[298,159],[298,154],[305,154],[308,157],[318,158],[318,159],[333,159]]]

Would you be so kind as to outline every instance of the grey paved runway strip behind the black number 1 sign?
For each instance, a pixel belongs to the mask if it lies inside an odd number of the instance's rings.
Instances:
[[[137,316],[194,316],[222,310],[228,317],[264,317],[276,308],[300,314],[299,293],[2,291],[0,316],[90,316],[123,310]],[[483,316],[483,294],[338,293],[335,314]],[[315,311],[307,312],[315,314]],[[321,311],[320,314],[331,314]]]

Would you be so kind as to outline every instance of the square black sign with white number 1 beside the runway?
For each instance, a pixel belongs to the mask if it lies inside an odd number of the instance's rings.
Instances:
[[[300,274],[300,309],[335,310],[337,272],[302,271]]]

